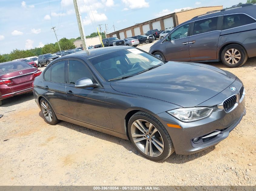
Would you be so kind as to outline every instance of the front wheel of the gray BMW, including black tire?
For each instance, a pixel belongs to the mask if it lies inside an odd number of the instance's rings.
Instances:
[[[174,152],[167,130],[149,113],[140,111],[131,116],[128,133],[135,148],[152,161],[165,160]]]

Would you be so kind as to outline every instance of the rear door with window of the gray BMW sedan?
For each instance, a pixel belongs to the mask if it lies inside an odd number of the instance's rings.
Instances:
[[[66,61],[55,62],[44,72],[45,96],[55,113],[72,117],[66,97]]]

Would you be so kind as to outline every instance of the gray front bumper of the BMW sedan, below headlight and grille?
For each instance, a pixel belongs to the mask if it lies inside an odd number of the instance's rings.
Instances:
[[[245,115],[245,97],[230,113],[217,109],[211,116],[194,122],[181,122],[167,112],[159,113],[156,117],[167,129],[173,142],[176,154],[194,154],[227,138]],[[181,129],[168,127],[167,124],[177,124]],[[214,131],[221,131],[218,135],[200,144],[194,144],[194,138],[208,135]]]

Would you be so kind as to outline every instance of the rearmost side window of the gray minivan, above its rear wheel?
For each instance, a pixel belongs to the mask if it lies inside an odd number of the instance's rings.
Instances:
[[[246,24],[255,23],[256,21],[245,14],[229,14],[224,15],[222,30],[240,27]]]

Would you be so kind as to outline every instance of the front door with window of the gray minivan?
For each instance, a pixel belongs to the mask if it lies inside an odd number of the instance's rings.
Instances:
[[[188,28],[189,24],[182,25],[170,33],[163,41],[165,44],[166,59],[168,61],[190,61]]]

